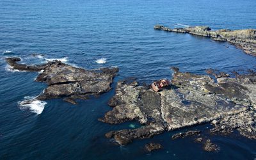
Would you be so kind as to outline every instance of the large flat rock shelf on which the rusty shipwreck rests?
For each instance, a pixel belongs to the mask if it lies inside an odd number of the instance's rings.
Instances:
[[[246,132],[255,134],[256,74],[237,75],[234,78],[217,76],[215,83],[211,76],[173,69],[175,73],[171,86],[161,92],[154,92],[136,82],[118,82],[116,94],[109,100],[113,109],[99,120],[109,124],[137,120],[143,126],[111,131],[106,135],[108,138],[125,145],[136,138],[150,138],[164,131],[217,120],[225,128],[237,129],[242,135]],[[242,113],[246,113],[246,116],[238,116]],[[222,125],[215,124],[217,129],[214,131],[221,131],[219,126]]]

